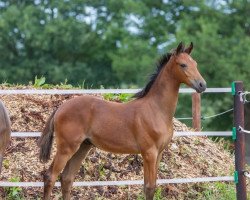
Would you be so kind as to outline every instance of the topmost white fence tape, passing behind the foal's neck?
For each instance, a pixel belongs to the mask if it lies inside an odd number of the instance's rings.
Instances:
[[[134,94],[140,91],[140,89],[76,89],[76,90],[60,90],[60,89],[19,89],[19,90],[0,90],[0,95],[10,95],[10,94]],[[180,93],[194,93],[195,90],[190,88],[180,88]],[[228,93],[231,92],[231,88],[207,88],[205,93]]]

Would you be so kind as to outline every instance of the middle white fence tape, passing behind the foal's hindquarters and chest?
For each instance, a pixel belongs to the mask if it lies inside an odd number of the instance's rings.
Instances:
[[[41,132],[12,132],[12,137],[40,137]],[[204,132],[175,132],[174,137],[181,136],[232,136],[231,131],[204,131]]]

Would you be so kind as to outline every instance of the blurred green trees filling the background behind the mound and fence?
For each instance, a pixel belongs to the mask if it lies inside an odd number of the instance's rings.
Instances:
[[[157,57],[193,41],[208,87],[242,80],[249,88],[249,13],[243,0],[1,1],[0,82],[37,76],[38,88],[142,87]],[[176,116],[191,116],[190,99],[180,98]],[[227,95],[202,99],[204,115],[232,106]],[[203,127],[229,130],[231,121],[232,113]]]

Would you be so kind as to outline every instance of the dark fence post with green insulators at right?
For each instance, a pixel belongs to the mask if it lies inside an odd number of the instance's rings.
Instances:
[[[244,103],[240,100],[240,92],[243,92],[242,81],[233,83],[234,94],[234,127],[236,129],[235,144],[235,170],[236,170],[236,196],[237,200],[246,200],[246,177],[245,170],[245,134],[239,130],[239,126],[244,127]]]

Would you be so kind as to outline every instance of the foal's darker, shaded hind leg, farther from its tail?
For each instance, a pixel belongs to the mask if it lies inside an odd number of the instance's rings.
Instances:
[[[64,200],[70,200],[70,190],[75,179],[75,175],[91,147],[93,147],[91,143],[84,141],[78,151],[67,162],[61,176],[62,196]]]

